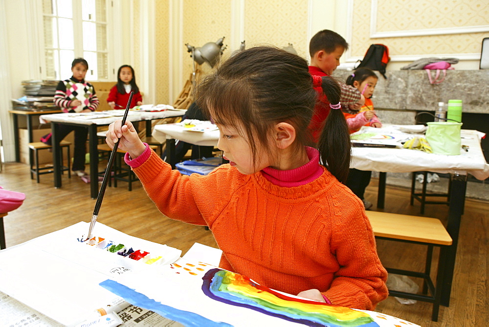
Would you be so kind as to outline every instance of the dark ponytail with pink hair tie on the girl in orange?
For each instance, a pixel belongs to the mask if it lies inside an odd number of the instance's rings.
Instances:
[[[338,181],[344,183],[350,169],[351,142],[348,125],[339,104],[341,89],[330,76],[322,77],[322,89],[332,109],[323,126],[318,149],[322,163]],[[338,109],[333,109],[335,107]]]

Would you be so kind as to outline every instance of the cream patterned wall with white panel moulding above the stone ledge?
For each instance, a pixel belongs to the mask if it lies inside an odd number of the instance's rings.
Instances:
[[[355,0],[349,57],[362,58],[373,43],[389,47],[388,69],[424,57],[455,57],[455,69],[478,69],[489,36],[487,0]]]

